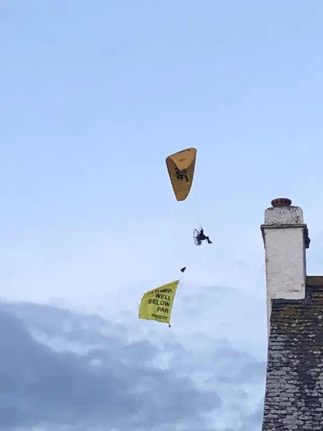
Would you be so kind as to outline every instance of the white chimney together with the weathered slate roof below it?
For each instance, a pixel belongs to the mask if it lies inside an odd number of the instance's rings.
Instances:
[[[323,431],[323,277],[306,276],[303,212],[275,199],[261,230],[268,318],[262,431]]]

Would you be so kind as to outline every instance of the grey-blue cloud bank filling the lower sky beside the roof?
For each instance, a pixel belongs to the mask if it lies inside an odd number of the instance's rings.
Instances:
[[[225,339],[134,341],[127,325],[31,303],[2,303],[0,328],[4,431],[259,429],[265,364]]]

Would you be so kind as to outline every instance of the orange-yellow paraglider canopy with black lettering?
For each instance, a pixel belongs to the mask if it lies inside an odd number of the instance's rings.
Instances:
[[[195,170],[196,148],[187,148],[171,154],[166,159],[167,170],[171,179],[175,197],[185,201],[188,197]]]

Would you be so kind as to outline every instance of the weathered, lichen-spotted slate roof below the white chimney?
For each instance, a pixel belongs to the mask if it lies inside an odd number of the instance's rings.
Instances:
[[[273,300],[262,430],[323,431],[323,276]]]

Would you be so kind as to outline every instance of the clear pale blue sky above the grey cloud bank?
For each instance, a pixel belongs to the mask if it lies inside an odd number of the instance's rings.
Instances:
[[[122,321],[188,265],[184,289],[262,307],[263,358],[273,198],[303,208],[308,272],[323,268],[322,13],[318,0],[3,0],[2,296]],[[196,176],[177,203],[165,158],[187,147]],[[213,245],[197,248],[201,224]]]

